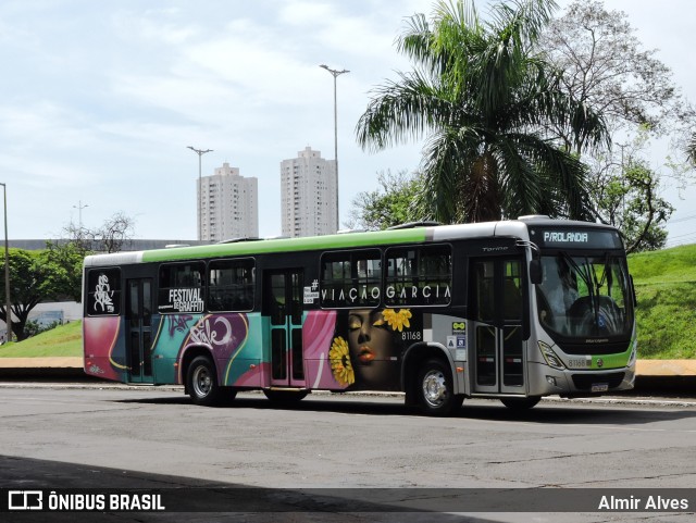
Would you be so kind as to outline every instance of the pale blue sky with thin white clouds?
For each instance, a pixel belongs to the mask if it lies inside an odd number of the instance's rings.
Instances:
[[[568,1],[560,1],[562,5]],[[483,1],[476,2],[485,13]],[[605,0],[696,102],[696,2]],[[341,226],[377,173],[414,171],[422,141],[369,152],[356,124],[371,91],[409,71],[395,38],[433,0],[2,0],[0,183],[10,239],[59,238],[123,212],[135,237],[195,239],[202,174],[224,162],[259,180],[260,236],[281,234],[282,160],[334,158],[337,78]],[[655,145],[652,166],[667,151]],[[668,245],[696,241],[696,206],[676,208]]]

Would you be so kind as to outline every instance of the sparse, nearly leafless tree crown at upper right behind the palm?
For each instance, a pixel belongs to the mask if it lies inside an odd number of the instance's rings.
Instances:
[[[562,72],[564,92],[602,114],[612,135],[646,128],[663,136],[696,122],[696,110],[670,69],[657,50],[643,49],[624,12],[607,11],[597,0],[575,0],[546,27],[538,46]],[[552,130],[569,150],[582,152],[585,138],[572,127]]]

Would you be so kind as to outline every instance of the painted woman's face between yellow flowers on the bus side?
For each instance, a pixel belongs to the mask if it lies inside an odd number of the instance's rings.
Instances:
[[[391,331],[381,311],[350,311],[348,314],[348,348],[350,359],[364,382],[378,382],[385,365],[394,356]],[[373,364],[380,362],[380,364]]]

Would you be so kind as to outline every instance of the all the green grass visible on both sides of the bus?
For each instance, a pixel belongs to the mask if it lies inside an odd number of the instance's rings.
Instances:
[[[638,358],[696,359],[696,245],[629,257],[638,307]],[[0,347],[0,358],[82,356],[82,322]]]

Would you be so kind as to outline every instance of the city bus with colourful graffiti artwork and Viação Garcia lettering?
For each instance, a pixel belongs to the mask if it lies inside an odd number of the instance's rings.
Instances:
[[[529,409],[635,379],[635,292],[602,224],[523,216],[95,254],[83,287],[88,375],[183,385],[202,406],[380,390],[446,415],[464,398]]]

